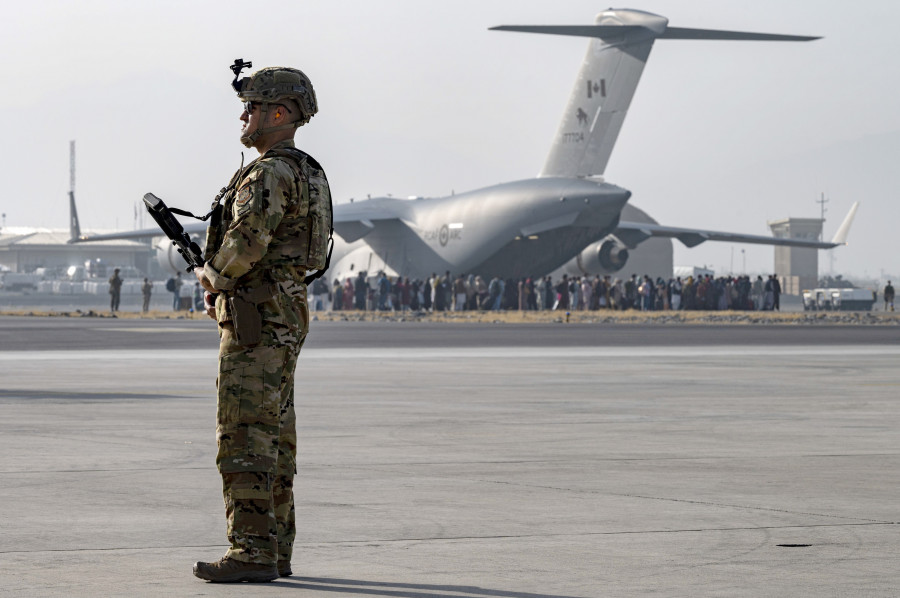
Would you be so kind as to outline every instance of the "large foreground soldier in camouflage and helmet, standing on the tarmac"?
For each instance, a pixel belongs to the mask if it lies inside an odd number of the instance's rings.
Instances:
[[[220,194],[207,261],[195,270],[219,324],[216,464],[230,547],[194,575],[219,582],[291,575],[294,369],[309,330],[307,270],[327,268],[332,223],[325,173],[293,141],[318,109],[309,79],[283,67],[239,73],[241,141],[260,157]]]

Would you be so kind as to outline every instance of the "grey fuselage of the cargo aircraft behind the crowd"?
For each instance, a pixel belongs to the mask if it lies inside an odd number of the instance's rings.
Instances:
[[[609,234],[630,195],[599,179],[552,177],[442,198],[381,197],[337,205],[338,244],[329,279],[380,269],[411,278],[447,270],[482,276],[541,275]],[[362,240],[340,242],[342,209],[366,208],[381,219],[370,222],[372,228]],[[393,217],[385,218],[386,214]]]

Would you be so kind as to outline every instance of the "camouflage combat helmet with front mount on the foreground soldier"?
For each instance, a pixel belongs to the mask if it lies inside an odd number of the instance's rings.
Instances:
[[[235,60],[230,67],[234,72],[234,81],[231,82],[231,86],[237,91],[241,101],[261,104],[260,122],[265,122],[270,104],[281,104],[288,109],[288,112],[296,109],[300,111],[300,114],[293,122],[278,127],[260,127],[246,138],[242,137],[241,141],[247,147],[250,147],[264,133],[302,127],[319,111],[312,82],[303,71],[290,67],[271,66],[238,80],[241,70],[244,67],[252,66],[251,62],[244,62],[243,59]]]

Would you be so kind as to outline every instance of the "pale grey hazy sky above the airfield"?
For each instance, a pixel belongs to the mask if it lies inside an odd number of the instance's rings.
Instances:
[[[674,27],[824,39],[658,41],[608,181],[661,224],[754,234],[769,234],[767,220],[817,217],[824,193],[830,238],[860,200],[835,272],[900,271],[900,2],[620,7]],[[0,23],[0,212],[8,226],[68,226],[72,139],[83,228],[134,228],[147,191],[204,209],[246,151],[228,70],[237,57],[256,68],[296,66],[312,79],[321,112],[297,139],[325,166],[337,202],[534,176],[588,40],[488,27],[589,24],[605,8],[582,0],[14,3]],[[676,265],[772,268],[770,247],[674,246]],[[820,270],[829,264],[821,253]]]

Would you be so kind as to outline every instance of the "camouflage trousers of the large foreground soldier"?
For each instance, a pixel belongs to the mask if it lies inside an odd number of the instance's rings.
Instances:
[[[296,534],[294,369],[306,327],[263,323],[254,347],[238,345],[230,323],[219,330],[216,464],[231,542],[226,556],[289,561]]]

